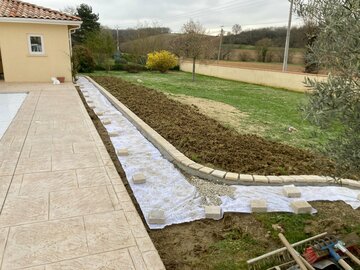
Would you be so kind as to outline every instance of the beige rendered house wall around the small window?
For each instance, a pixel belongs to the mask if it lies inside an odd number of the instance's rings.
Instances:
[[[29,34],[43,36],[44,55],[30,54]],[[72,80],[67,25],[1,22],[0,50],[6,82],[50,82],[51,77]]]

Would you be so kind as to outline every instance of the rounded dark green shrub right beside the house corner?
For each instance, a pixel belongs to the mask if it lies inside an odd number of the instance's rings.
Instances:
[[[72,64],[74,72],[90,73],[95,70],[95,60],[91,51],[81,45],[73,48]]]

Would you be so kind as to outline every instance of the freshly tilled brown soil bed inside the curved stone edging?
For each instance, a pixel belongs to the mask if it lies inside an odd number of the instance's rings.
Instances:
[[[94,76],[125,104],[190,159],[239,173],[332,175],[327,159],[256,135],[224,127],[192,106],[165,94],[114,77]]]

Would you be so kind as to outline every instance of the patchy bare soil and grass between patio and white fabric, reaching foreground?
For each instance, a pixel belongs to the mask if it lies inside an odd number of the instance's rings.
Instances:
[[[82,94],[79,94],[146,226],[106,129],[88,107]],[[343,240],[349,239],[359,243],[359,210],[354,211],[343,202],[316,202],[312,205],[318,210],[318,214],[314,217],[304,217],[305,221],[299,223],[306,226],[299,224],[295,229],[288,227],[288,223],[285,222],[286,218],[297,217],[291,214],[227,213],[220,221],[199,220],[168,226],[163,230],[148,229],[148,233],[168,270],[247,269],[246,260],[281,246],[276,237],[278,228],[285,235],[291,235],[294,231],[306,231],[308,237],[327,231],[339,237],[345,236]],[[303,219],[300,218],[300,221]],[[272,223],[276,223],[277,226],[273,228]],[[348,235],[349,232],[352,233]]]

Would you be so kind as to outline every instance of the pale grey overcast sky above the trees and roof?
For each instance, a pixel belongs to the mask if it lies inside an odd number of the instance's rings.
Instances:
[[[243,29],[286,26],[288,0],[26,0],[53,9],[64,9],[86,3],[99,13],[100,22],[109,27],[136,27],[156,21],[179,32],[190,18],[203,24],[211,34],[220,26],[229,31],[238,23]],[[293,24],[301,20],[294,16]]]

